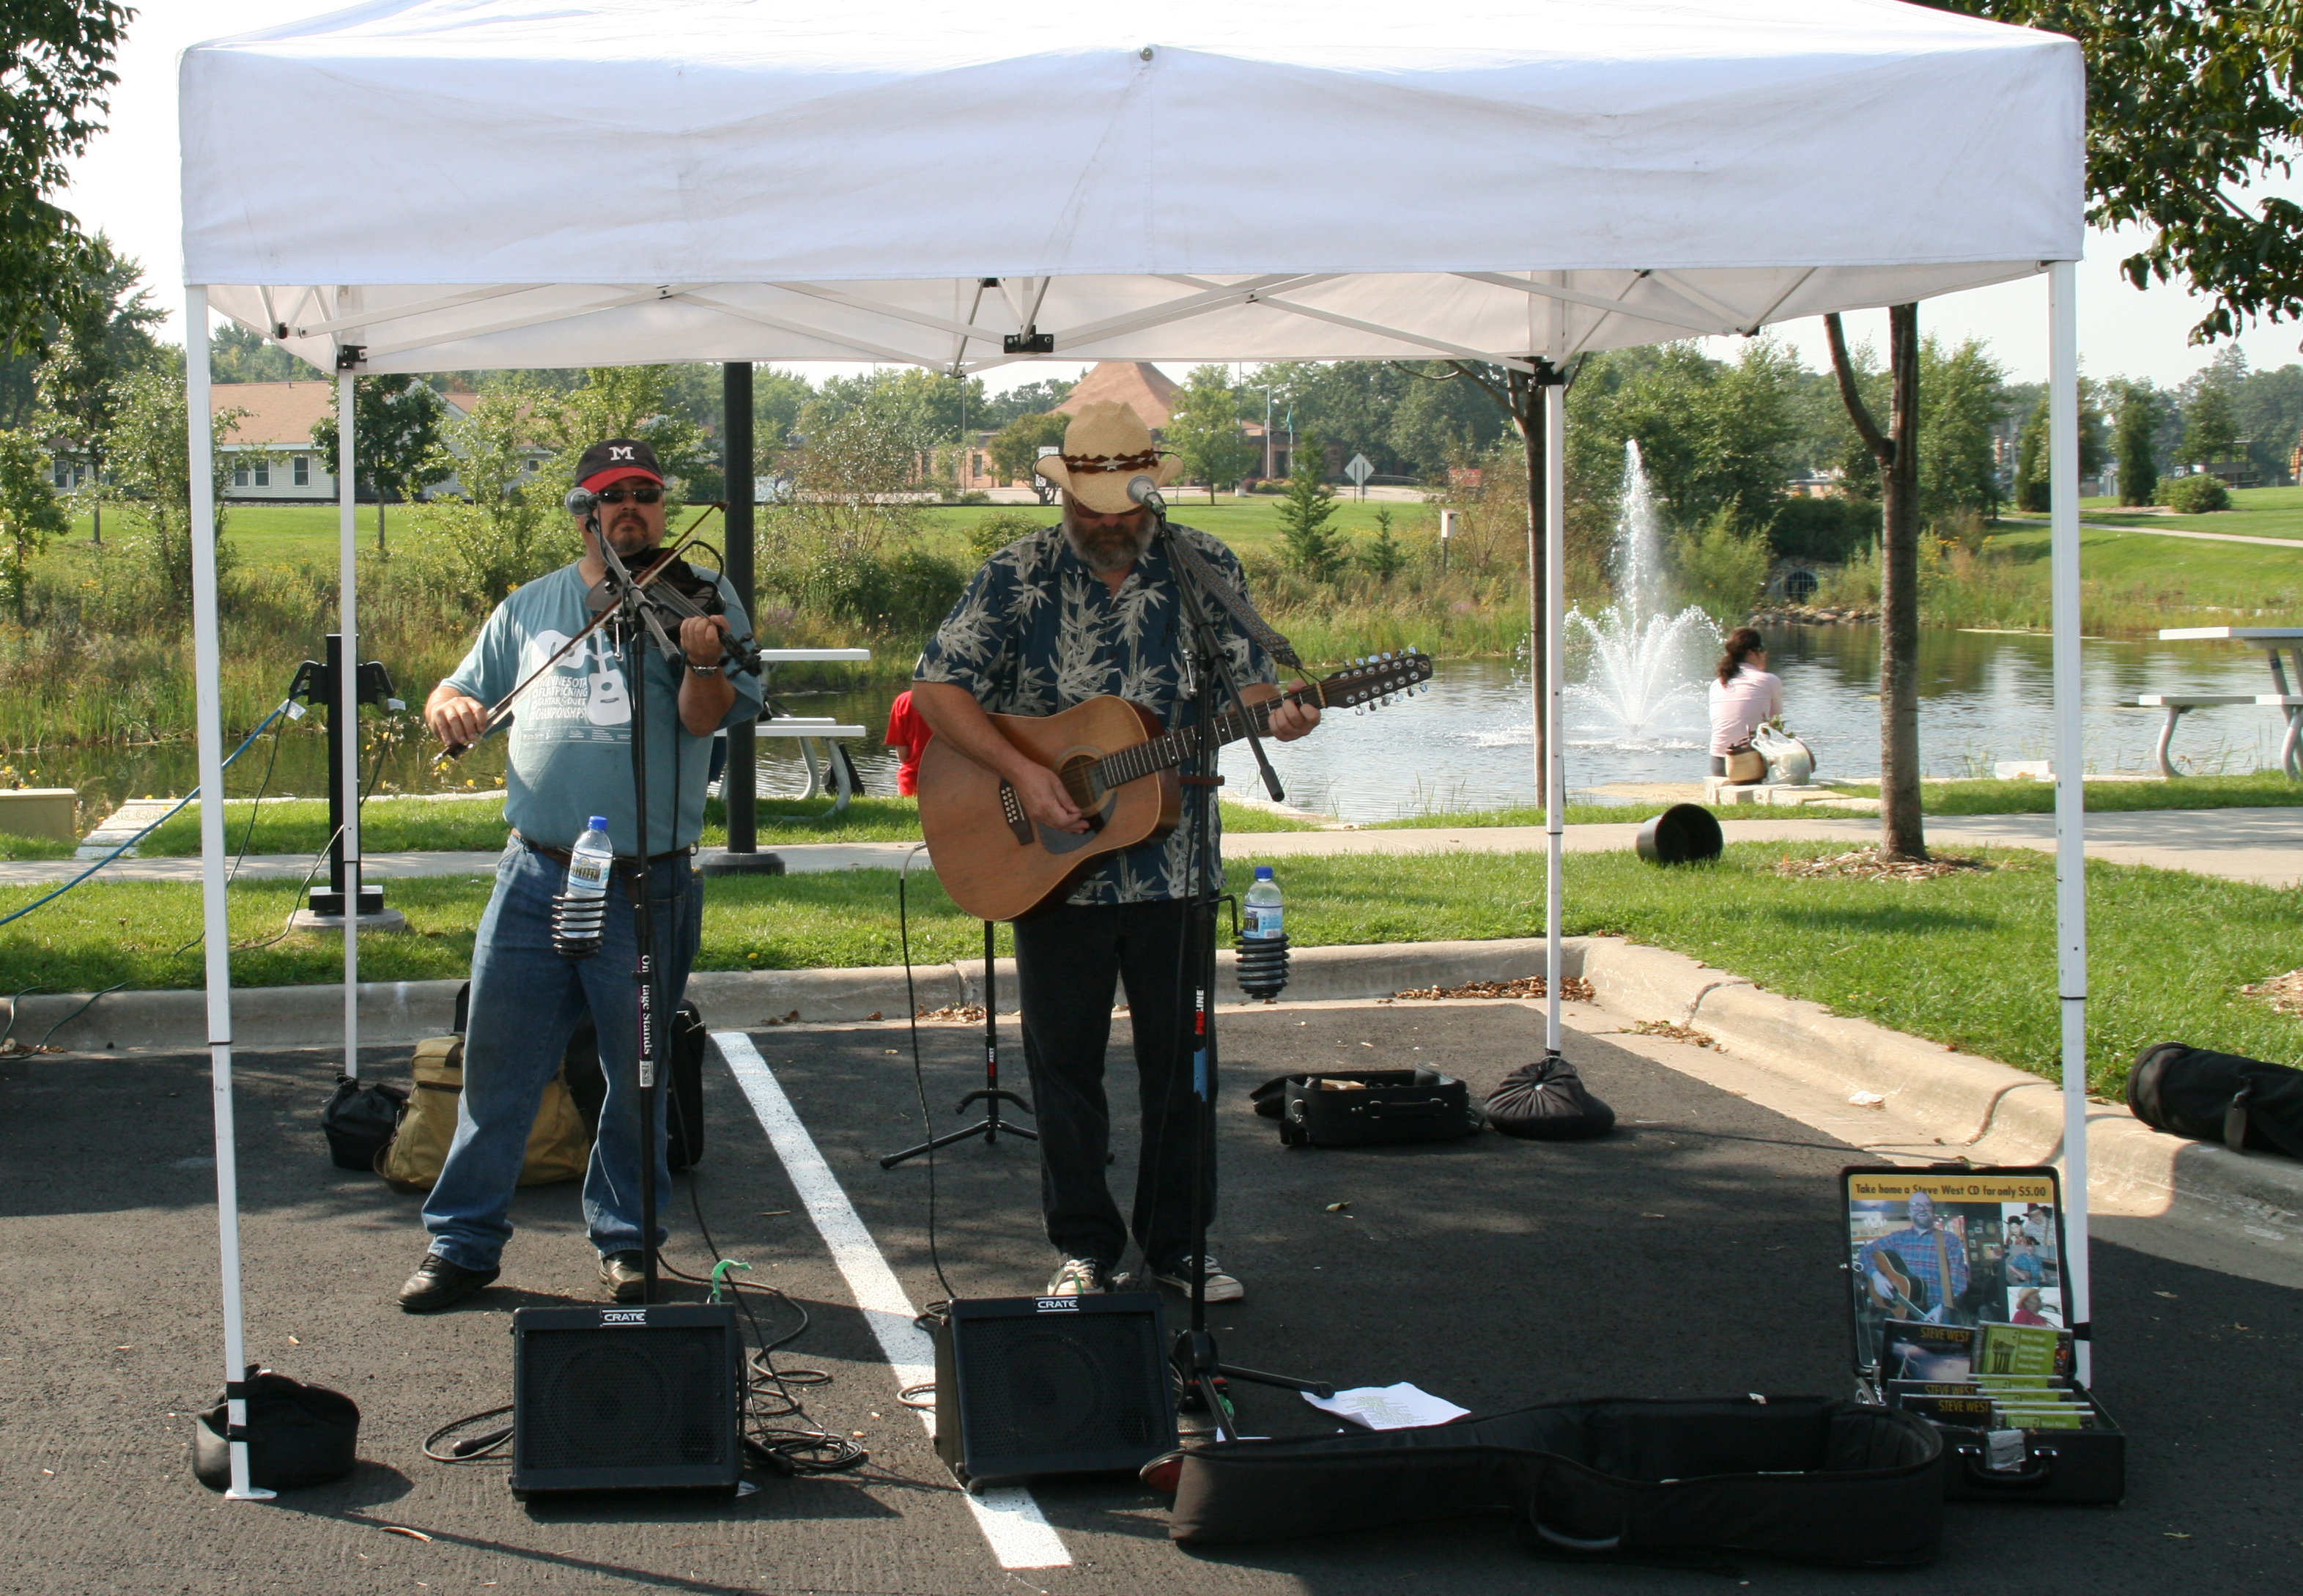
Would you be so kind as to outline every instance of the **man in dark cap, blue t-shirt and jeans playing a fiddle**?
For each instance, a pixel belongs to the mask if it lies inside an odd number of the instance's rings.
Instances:
[[[599,539],[626,564],[663,546],[663,474],[645,442],[610,438],[585,449],[576,486],[596,495],[580,516],[583,560],[514,590],[488,615],[461,666],[433,689],[424,723],[447,744],[477,744],[497,702],[592,620],[585,596],[606,576]],[[712,735],[760,712],[760,682],[723,668],[730,636],[751,622],[719,578],[725,615],[679,622],[684,661],[640,649],[647,693],[647,836],[631,783],[629,656],[594,631],[518,702],[504,769],[511,838],[495,866],[495,894],[472,944],[472,1011],[463,1041],[463,1094],[456,1140],[424,1202],[431,1251],[401,1287],[401,1308],[435,1313],[495,1280],[511,1193],[520,1181],[527,1133],[544,1087],[560,1069],[569,1034],[592,1013],[608,1099],[599,1115],[583,1211],[599,1278],[617,1301],[643,1290],[640,1140],[631,1103],[638,1016],[631,972],[638,963],[633,894],[649,894],[656,970],[666,1004],[679,1002],[696,960],[702,884],[689,866],[702,831]],[[569,848],[590,815],[606,815],[617,852],[617,884],[606,900],[601,949],[585,960],[553,951],[553,898],[564,889]],[[645,859],[645,864],[643,864]],[[656,1188],[670,1188],[663,1099],[645,1156]]]

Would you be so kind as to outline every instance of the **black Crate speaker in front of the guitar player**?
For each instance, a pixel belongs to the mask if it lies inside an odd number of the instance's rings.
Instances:
[[[1152,1315],[993,1317],[953,1324],[967,1370],[967,1449],[983,1456],[1152,1446],[1165,1403]]]

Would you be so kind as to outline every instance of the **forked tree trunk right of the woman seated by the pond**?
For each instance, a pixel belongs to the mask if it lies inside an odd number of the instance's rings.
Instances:
[[[1824,318],[1847,417],[1879,461],[1879,852],[1925,859],[1918,811],[1918,306],[1888,306],[1886,327],[1891,412],[1882,433],[1856,389],[1840,318]]]

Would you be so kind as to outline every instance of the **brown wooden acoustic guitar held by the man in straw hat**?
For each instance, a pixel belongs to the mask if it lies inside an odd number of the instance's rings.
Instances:
[[[1280,702],[1356,709],[1389,702],[1428,682],[1432,661],[1407,649],[1354,661],[1297,693],[1269,698],[1216,719],[1214,742],[1239,742],[1253,719],[1257,735]],[[935,877],[976,919],[1016,919],[1062,894],[1101,854],[1152,843],[1184,818],[1177,767],[1200,751],[1202,730],[1161,730],[1158,716],[1110,693],[1048,716],[995,714],[1000,735],[1064,778],[1087,831],[1057,831],[1023,811],[1016,790],[933,739],[919,758],[919,829]]]

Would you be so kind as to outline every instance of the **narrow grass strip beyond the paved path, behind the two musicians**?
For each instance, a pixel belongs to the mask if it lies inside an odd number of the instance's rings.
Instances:
[[[760,799],[760,845],[776,843],[910,843],[919,838],[917,799],[850,799],[836,818],[824,818],[829,799]],[[251,820],[253,813],[253,836]],[[327,804],[320,799],[274,799],[256,811],[251,804],[223,804],[226,843],[237,854],[311,854],[327,848]],[[1290,820],[1239,804],[1223,806],[1223,824],[1230,831],[1313,831],[1308,820]],[[504,845],[504,813],[488,801],[438,804],[424,799],[368,799],[362,808],[359,850],[366,854],[394,852],[474,852]],[[246,841],[244,841],[246,838]],[[18,838],[0,838],[0,850]],[[728,841],[728,811],[719,799],[705,804],[705,848]],[[37,848],[37,843],[32,843]],[[58,843],[55,854],[5,854],[16,859],[60,859],[71,854],[69,843]],[[138,843],[140,854],[191,857],[200,852],[200,806],[168,820]]]

